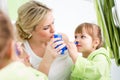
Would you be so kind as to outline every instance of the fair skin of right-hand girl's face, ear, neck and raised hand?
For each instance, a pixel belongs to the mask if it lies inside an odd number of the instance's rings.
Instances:
[[[81,52],[83,57],[87,58],[88,55],[96,49],[99,44],[98,39],[93,40],[92,37],[83,29],[82,34],[75,34],[75,41],[78,42],[77,45],[74,43],[68,43],[67,47],[73,62],[76,62],[78,52]]]

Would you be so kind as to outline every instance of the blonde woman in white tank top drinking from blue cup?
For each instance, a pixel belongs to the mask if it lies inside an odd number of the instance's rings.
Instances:
[[[55,32],[54,17],[50,8],[37,1],[23,4],[18,9],[16,28],[33,68],[46,73],[49,80],[66,80],[69,77],[72,61],[68,54],[59,56],[54,49],[48,49],[49,41],[54,40]],[[53,56],[58,58],[55,59]]]

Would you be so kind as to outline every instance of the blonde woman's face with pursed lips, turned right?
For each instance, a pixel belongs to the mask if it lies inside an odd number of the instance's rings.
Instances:
[[[41,42],[48,42],[53,38],[54,32],[54,18],[52,12],[49,12],[44,20],[40,22],[32,32],[32,38]]]

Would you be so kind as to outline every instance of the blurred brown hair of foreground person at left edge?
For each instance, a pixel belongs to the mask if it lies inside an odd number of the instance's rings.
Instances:
[[[0,10],[0,59],[10,58],[7,52],[8,44],[14,39],[13,26],[5,13]]]

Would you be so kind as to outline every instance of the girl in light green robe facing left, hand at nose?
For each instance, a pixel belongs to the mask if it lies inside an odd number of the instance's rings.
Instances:
[[[100,27],[83,23],[75,30],[75,41],[67,44],[74,62],[71,80],[110,80],[110,57],[102,46]],[[76,48],[77,47],[77,48]],[[81,52],[82,56],[78,55]]]

